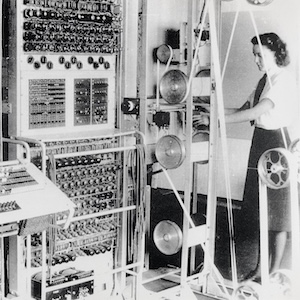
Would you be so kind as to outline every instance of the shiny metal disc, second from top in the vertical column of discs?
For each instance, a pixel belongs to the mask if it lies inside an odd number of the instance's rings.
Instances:
[[[178,104],[188,90],[188,78],[180,70],[167,71],[160,80],[159,91],[169,104]]]

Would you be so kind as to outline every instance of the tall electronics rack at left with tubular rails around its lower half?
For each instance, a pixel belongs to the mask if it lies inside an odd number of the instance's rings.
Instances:
[[[143,136],[119,125],[123,3],[8,1],[2,9],[4,152],[9,161],[29,160],[72,204],[66,214],[47,189],[3,204],[51,214],[43,228],[33,223],[34,231],[5,240],[3,299],[108,298],[140,261],[129,249],[143,220],[136,213],[143,169],[135,170],[143,166]]]

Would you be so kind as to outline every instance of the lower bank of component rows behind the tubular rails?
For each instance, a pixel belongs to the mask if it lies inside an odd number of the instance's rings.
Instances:
[[[61,146],[60,152],[63,148],[66,149]],[[47,152],[51,150],[48,148]],[[74,153],[72,157],[56,159],[48,169],[52,180],[75,205],[70,226],[54,233],[51,265],[111,251],[119,225],[117,215],[111,212],[120,206],[118,182],[123,169],[116,154],[78,156]],[[58,222],[64,218],[64,213],[57,214]],[[41,236],[36,234],[32,239],[32,266],[37,267],[41,264]]]

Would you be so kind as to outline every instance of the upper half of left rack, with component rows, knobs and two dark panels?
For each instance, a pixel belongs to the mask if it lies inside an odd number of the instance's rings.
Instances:
[[[12,79],[10,135],[114,130],[121,4],[121,0],[5,4],[12,18],[4,41]]]

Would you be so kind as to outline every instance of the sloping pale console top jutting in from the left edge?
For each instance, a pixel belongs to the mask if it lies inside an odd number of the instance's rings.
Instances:
[[[61,212],[66,222],[74,204],[35,165],[0,163],[1,225]]]

